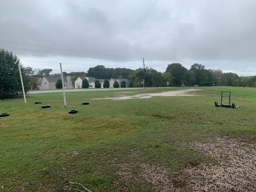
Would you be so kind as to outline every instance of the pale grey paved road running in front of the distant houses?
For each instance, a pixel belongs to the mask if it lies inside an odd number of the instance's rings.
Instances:
[[[77,92],[77,91],[100,91],[100,90],[131,90],[131,89],[142,89],[141,87],[137,88],[102,88],[102,89],[67,89],[65,92]],[[29,94],[36,93],[61,93],[63,90],[38,90],[38,91],[29,91]]]

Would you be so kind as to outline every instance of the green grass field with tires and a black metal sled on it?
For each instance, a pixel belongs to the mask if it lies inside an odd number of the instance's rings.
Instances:
[[[0,191],[60,191],[66,183],[56,171],[92,191],[154,191],[136,166],[122,178],[120,167],[137,162],[161,166],[182,187],[189,180],[188,164],[216,163],[184,145],[228,136],[254,142],[256,89],[199,87],[198,96],[153,97],[122,101],[91,100],[121,94],[154,93],[178,87],[33,94],[0,101]],[[221,90],[231,91],[238,109],[216,108]],[[41,109],[35,101],[51,104]],[[81,105],[89,101],[90,105]],[[78,109],[76,114],[68,114]],[[190,163],[188,163],[190,162]],[[139,168],[138,168],[139,169]],[[128,179],[127,179],[128,178]],[[177,180],[182,178],[182,180]]]

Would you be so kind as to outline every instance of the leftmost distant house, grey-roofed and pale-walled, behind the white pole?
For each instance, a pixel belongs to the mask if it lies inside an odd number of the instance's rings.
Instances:
[[[61,76],[44,76],[38,87],[40,90],[56,89],[55,84],[59,79],[61,79]],[[63,76],[63,79],[65,89],[74,88],[72,86],[71,76]]]

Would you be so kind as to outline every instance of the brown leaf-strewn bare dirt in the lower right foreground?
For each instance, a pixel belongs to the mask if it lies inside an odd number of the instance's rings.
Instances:
[[[241,139],[215,137],[209,143],[189,143],[201,154],[215,157],[218,163],[188,163],[183,176],[170,178],[172,170],[145,162],[116,164],[120,179],[146,182],[151,189],[161,192],[255,191],[256,144]],[[191,165],[190,165],[191,164]],[[187,175],[187,176],[185,176]],[[129,186],[130,183],[126,183]],[[128,188],[126,188],[128,189]]]

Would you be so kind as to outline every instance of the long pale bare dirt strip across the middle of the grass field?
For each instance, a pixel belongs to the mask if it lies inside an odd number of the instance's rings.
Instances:
[[[165,91],[162,93],[143,93],[133,96],[119,96],[119,97],[107,97],[107,98],[97,98],[97,99],[111,99],[113,101],[116,100],[125,100],[125,99],[148,99],[154,96],[195,96],[188,94],[192,91],[198,91],[198,89],[186,89],[186,90],[172,90],[172,91]]]

